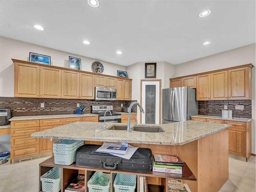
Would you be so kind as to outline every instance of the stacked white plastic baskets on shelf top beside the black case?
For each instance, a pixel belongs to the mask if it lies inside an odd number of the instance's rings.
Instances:
[[[59,146],[59,150],[56,150],[57,146],[55,146],[55,149],[53,150],[54,163],[58,165],[71,165],[76,159],[76,150],[81,145],[83,145],[83,141],[72,142],[72,145],[70,145],[71,147],[68,148]]]

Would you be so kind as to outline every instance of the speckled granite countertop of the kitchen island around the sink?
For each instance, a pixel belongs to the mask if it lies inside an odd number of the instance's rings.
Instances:
[[[131,127],[136,124],[137,123],[132,123]],[[126,132],[117,130],[100,130],[102,125],[103,123],[100,122],[74,122],[46,131],[36,132],[31,136],[51,139],[183,145],[231,126],[221,123],[183,121],[160,125],[165,131],[162,133],[146,133],[135,131]],[[126,123],[106,123],[106,129],[111,125],[126,125]],[[145,126],[145,124],[142,126]],[[146,124],[146,126],[156,125]]]

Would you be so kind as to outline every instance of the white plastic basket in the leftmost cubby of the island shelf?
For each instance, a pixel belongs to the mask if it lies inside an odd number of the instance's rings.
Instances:
[[[40,178],[42,182],[42,191],[59,192],[61,190],[61,169],[52,168]]]

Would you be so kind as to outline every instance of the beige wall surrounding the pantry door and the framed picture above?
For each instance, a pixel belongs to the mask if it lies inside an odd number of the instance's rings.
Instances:
[[[169,78],[174,75],[174,65],[164,61],[158,61],[157,63],[157,75],[156,79],[162,80],[162,89],[169,87]],[[145,79],[145,62],[136,62],[131,66],[128,66],[127,72],[129,78],[133,79],[132,82],[132,99],[140,102],[140,80]],[[139,114],[139,109],[138,109]],[[140,122],[140,116],[137,117]]]

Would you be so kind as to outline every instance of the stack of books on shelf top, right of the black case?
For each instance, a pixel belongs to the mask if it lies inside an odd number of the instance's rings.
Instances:
[[[178,156],[153,155],[153,172],[182,174],[182,166],[184,166],[184,163]]]

